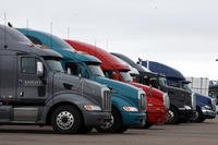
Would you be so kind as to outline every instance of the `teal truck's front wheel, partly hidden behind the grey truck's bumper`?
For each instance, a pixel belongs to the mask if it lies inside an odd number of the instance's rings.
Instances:
[[[122,133],[128,130],[126,126],[122,125],[122,117],[116,108],[112,108],[111,119],[111,122],[96,128],[96,130],[100,133]]]

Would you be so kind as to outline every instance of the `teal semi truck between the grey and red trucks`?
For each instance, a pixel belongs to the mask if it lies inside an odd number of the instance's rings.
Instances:
[[[141,128],[145,124],[145,93],[131,85],[105,77],[97,58],[76,52],[64,40],[38,31],[20,28],[33,43],[47,46],[63,56],[62,64],[71,75],[80,75],[107,85],[112,90],[112,121],[96,128],[99,132],[120,133],[129,128]]]

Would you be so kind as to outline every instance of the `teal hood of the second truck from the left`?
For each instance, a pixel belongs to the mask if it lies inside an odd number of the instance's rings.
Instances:
[[[138,104],[138,92],[142,89],[102,76],[96,76],[95,80],[101,84],[107,85],[110,89],[112,89],[112,96],[119,95],[120,97],[125,97],[125,99],[130,99],[135,105]]]

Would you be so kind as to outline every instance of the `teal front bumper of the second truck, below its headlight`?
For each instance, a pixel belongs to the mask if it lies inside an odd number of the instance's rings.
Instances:
[[[121,112],[123,125],[128,128],[142,128],[146,122],[146,113]]]

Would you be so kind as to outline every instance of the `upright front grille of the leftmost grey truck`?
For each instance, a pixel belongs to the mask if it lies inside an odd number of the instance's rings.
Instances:
[[[111,111],[111,93],[110,90],[105,90],[102,96],[102,110]]]

